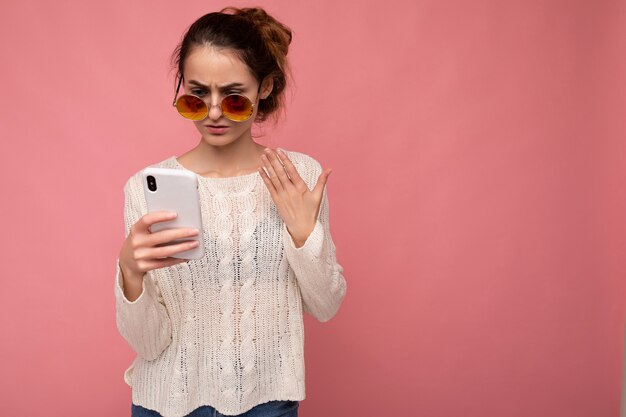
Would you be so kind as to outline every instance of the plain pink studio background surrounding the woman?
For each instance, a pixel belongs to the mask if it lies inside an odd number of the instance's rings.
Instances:
[[[306,316],[302,416],[619,413],[624,3],[232,3],[294,31],[259,142],[334,170],[348,292]],[[130,415],[122,188],[197,143],[169,57],[228,4],[0,5],[0,415]]]

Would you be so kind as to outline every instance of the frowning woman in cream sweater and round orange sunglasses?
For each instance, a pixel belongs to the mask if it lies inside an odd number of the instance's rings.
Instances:
[[[260,8],[226,8],[187,30],[173,104],[200,132],[151,166],[198,176],[205,255],[173,258],[196,230],[155,233],[141,171],[124,186],[116,322],[137,356],[132,416],[296,416],[305,398],[303,312],[330,320],[346,293],[329,231],[330,170],[267,149],[252,124],[276,116],[291,31]],[[185,94],[178,96],[180,87]]]

